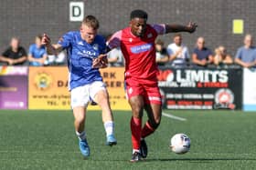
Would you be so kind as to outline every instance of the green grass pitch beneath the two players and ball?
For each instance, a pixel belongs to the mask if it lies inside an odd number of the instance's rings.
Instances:
[[[256,113],[167,111],[187,118],[163,117],[146,139],[147,160],[132,164],[130,112],[114,112],[118,145],[104,145],[100,112],[86,122],[91,157],[83,160],[70,111],[0,111],[0,169],[254,169]],[[144,119],[145,120],[145,119]],[[191,149],[176,155],[169,140],[176,133],[191,139]]]

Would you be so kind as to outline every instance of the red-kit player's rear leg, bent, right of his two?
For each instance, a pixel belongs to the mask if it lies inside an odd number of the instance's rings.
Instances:
[[[147,156],[147,145],[145,143],[144,137],[153,134],[155,132],[155,129],[160,124],[161,116],[162,116],[162,108],[161,108],[161,105],[148,104],[144,106],[144,109],[146,110],[148,121],[145,123],[142,130],[140,152],[142,157],[145,158]]]

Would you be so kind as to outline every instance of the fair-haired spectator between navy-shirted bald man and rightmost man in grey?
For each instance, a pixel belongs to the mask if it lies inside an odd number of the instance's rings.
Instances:
[[[231,65],[233,64],[232,57],[227,54],[227,50],[224,46],[219,46],[215,49],[215,55],[213,57],[214,65]]]

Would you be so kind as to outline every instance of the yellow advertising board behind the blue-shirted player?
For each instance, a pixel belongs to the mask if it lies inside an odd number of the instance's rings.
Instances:
[[[123,67],[109,67],[101,70],[107,85],[113,110],[130,110],[125,98]],[[29,67],[28,109],[70,109],[68,90],[68,68],[65,66]],[[89,106],[99,110],[99,106]]]

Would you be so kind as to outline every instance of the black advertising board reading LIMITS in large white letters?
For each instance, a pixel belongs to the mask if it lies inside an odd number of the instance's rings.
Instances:
[[[167,109],[241,109],[242,69],[160,67]]]

